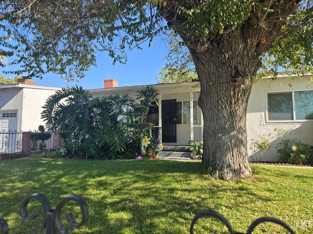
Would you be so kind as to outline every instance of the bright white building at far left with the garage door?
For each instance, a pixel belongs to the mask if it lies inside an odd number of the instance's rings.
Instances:
[[[41,119],[42,107],[60,89],[35,85],[31,80],[0,85],[0,132],[34,131],[45,125]]]

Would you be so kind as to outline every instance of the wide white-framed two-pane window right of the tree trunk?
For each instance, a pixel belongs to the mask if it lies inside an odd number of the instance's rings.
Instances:
[[[268,120],[313,119],[313,90],[268,93]]]

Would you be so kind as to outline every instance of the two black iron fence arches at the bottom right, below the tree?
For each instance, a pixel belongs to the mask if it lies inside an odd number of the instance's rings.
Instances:
[[[197,220],[200,219],[201,217],[206,217],[206,216],[215,217],[215,218],[221,220],[225,224],[225,226],[227,227],[230,234],[243,234],[243,233],[235,232],[232,229],[229,221],[223,215],[221,215],[220,213],[217,213],[215,211],[212,211],[212,210],[201,211],[192,219],[191,225],[190,225],[190,234],[194,234],[194,226],[195,226],[195,223],[197,222]],[[278,224],[278,225],[284,227],[289,233],[295,234],[295,232],[291,229],[291,227],[288,224],[281,221],[280,219],[273,218],[273,217],[258,218],[257,220],[255,220],[254,222],[251,223],[246,234],[252,234],[252,232],[256,228],[256,226],[258,226],[261,223],[265,223],[265,222],[272,222],[272,223]],[[215,234],[216,234],[216,232],[215,232]]]

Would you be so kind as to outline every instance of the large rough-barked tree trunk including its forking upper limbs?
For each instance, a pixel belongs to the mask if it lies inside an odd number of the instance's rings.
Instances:
[[[261,67],[259,57],[274,41],[286,36],[281,34],[281,28],[295,12],[299,1],[257,1],[260,4],[251,4],[251,13],[244,23],[226,25],[220,30],[214,28],[213,22],[216,24],[219,20],[210,19],[210,8],[206,8],[206,3],[197,5],[198,2],[193,2],[165,1],[161,13],[186,42],[201,83],[203,169],[214,178],[246,178],[251,175],[246,108],[252,76]],[[193,15],[195,5],[203,10],[202,16]],[[186,11],[178,6],[190,11],[185,14]]]

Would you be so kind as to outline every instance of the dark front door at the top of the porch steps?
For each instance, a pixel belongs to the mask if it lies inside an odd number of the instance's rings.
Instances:
[[[162,141],[177,142],[176,99],[162,100]]]

